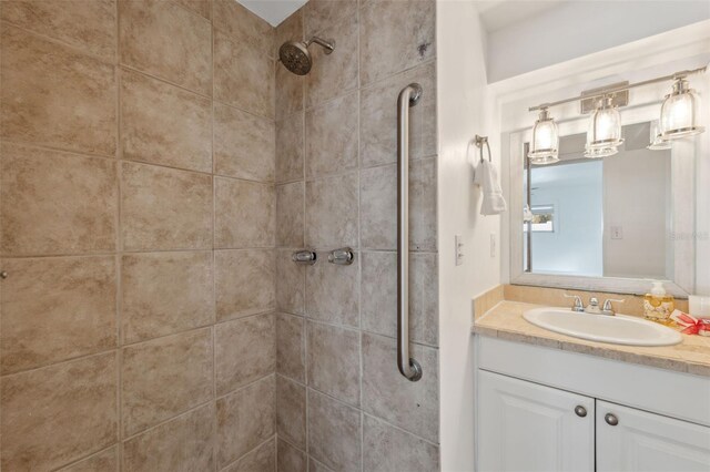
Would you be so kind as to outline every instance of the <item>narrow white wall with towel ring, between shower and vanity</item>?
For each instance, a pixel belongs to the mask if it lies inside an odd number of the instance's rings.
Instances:
[[[489,237],[499,243],[498,216],[478,214],[466,151],[475,134],[490,136],[500,165],[499,133],[486,123],[483,30],[473,2],[437,1],[439,366],[442,470],[474,468],[474,366],[471,298],[500,283],[500,263],[490,257]],[[475,150],[475,147],[474,147]],[[455,265],[454,235],[465,257]],[[499,254],[499,247],[498,247]]]

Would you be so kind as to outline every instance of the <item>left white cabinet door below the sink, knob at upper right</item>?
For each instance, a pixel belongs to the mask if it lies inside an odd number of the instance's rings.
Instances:
[[[477,411],[478,471],[594,471],[594,399],[479,370]]]

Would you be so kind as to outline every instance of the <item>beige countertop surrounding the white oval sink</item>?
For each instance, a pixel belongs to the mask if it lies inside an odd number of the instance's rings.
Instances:
[[[710,337],[681,335],[683,337],[681,343],[662,347],[587,341],[548,331],[523,318],[526,310],[540,306],[520,301],[500,301],[478,317],[471,330],[494,338],[710,377]]]

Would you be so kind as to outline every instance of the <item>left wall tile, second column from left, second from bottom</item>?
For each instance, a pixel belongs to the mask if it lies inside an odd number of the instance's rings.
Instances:
[[[210,400],[212,357],[210,328],[123,348],[124,435],[135,434]]]

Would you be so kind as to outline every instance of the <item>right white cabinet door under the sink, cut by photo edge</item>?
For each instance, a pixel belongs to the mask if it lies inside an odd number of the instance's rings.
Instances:
[[[710,428],[597,400],[597,470],[710,472]]]

